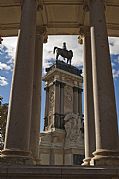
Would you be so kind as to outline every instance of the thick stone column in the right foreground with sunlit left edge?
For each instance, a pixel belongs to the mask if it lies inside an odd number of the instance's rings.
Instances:
[[[90,0],[96,151],[94,165],[119,165],[118,128],[103,0]]]

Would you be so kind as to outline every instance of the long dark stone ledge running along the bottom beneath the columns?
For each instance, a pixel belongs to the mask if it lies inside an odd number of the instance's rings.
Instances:
[[[118,179],[118,168],[38,166],[0,167],[1,179]]]

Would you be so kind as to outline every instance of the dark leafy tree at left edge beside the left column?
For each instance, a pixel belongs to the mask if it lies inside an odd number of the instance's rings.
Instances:
[[[8,104],[2,104],[2,97],[0,96],[0,150],[3,149],[5,139],[5,129],[7,121]]]

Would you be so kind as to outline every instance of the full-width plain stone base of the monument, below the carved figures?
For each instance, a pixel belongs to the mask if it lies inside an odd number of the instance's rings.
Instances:
[[[39,165],[81,165],[84,145],[66,143],[66,132],[61,129],[40,134]]]

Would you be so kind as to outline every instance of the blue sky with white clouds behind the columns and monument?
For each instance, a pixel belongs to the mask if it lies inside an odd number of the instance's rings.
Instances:
[[[74,57],[72,65],[83,68],[83,46],[78,44],[77,36],[49,36],[48,42],[43,48],[43,75],[45,68],[50,66],[55,61],[53,54],[54,46],[62,47],[62,43],[67,43],[67,48],[73,50]],[[15,51],[17,37],[9,37],[3,39],[3,44],[0,45],[0,96],[3,97],[3,102],[8,103],[10,85],[12,79],[12,71],[14,66]],[[112,71],[115,85],[116,106],[119,121],[119,38],[109,38]],[[60,57],[61,58],[61,57]],[[44,84],[43,84],[44,87]],[[42,105],[44,106],[44,90],[42,88]],[[42,107],[42,119],[44,115],[44,107]],[[43,128],[43,120],[41,121]]]

